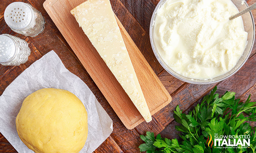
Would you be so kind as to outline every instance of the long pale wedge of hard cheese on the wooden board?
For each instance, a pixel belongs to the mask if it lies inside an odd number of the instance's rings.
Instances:
[[[152,120],[109,0],[88,0],[71,13],[144,119]]]

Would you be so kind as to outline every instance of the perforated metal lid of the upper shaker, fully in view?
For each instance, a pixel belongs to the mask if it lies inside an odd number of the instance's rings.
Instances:
[[[34,12],[26,3],[13,2],[6,7],[4,18],[11,29],[24,30],[32,24]]]

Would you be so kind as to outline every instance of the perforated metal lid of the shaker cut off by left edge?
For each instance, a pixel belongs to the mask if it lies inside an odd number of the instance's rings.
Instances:
[[[0,35],[0,63],[11,61],[16,54],[16,44],[12,38]]]

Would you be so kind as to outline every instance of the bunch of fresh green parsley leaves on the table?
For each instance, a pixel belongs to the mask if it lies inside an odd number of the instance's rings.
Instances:
[[[246,121],[256,121],[256,103],[250,102],[250,96],[245,103],[235,99],[234,92],[226,92],[219,97],[215,94],[214,87],[209,95],[203,98],[201,104],[187,115],[182,113],[179,105],[174,111],[175,121],[181,126],[176,126],[181,131],[179,137],[182,141],[161,138],[158,134],[155,138],[153,132],[141,135],[145,141],[139,146],[140,151],[147,153],[256,153],[255,127],[251,127]],[[208,147],[207,138],[211,134],[218,135],[250,135],[250,148],[214,148]],[[231,142],[234,140],[231,139]]]

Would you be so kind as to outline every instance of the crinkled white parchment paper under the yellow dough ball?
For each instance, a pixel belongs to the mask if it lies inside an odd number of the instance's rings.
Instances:
[[[113,131],[113,122],[87,85],[68,71],[54,51],[24,70],[0,97],[0,132],[19,153],[33,153],[20,140],[15,119],[23,100],[42,88],[59,88],[75,94],[88,114],[88,138],[80,153],[92,153]]]

